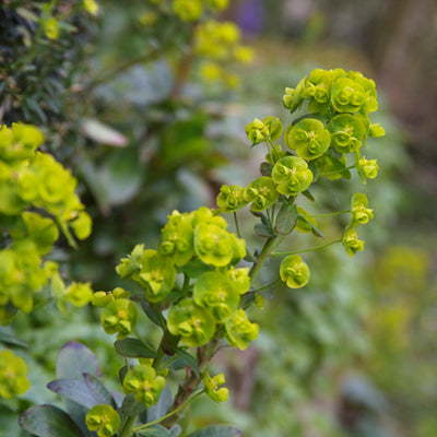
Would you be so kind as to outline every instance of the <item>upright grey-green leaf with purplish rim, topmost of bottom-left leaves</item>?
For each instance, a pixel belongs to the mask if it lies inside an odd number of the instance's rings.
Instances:
[[[102,376],[97,358],[83,344],[70,341],[59,352],[56,376],[59,379],[82,379],[83,374]]]

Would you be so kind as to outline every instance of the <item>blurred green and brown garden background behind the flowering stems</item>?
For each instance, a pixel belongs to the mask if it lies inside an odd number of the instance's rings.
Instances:
[[[70,14],[75,3],[58,2],[60,36],[39,45],[23,13],[39,2],[0,5],[9,24],[1,60],[15,66],[2,66],[0,102],[3,122],[42,127],[46,147],[80,179],[93,236],[55,258],[95,291],[118,285],[118,260],[139,241],[154,247],[173,210],[213,206],[222,184],[251,180],[263,153],[249,149],[245,126],[290,119],[286,86],[338,67],[377,84],[374,121],[387,134],[368,153],[379,176],[364,188],[335,184],[340,199],[369,198],[365,251],[353,260],[342,248],[316,252],[310,285],[267,294],[251,315],[261,326],[253,346],[224,350],[216,364],[232,400],[194,404],[190,426],[233,423],[250,437],[436,436],[436,1],[234,0],[215,17],[235,22],[253,56],[220,61],[192,50],[192,24],[157,15],[160,2],[101,0],[95,17]],[[250,217],[243,221],[250,235]],[[0,406],[5,429],[15,426],[11,411],[50,399],[44,386],[66,341],[95,350],[109,379],[121,363],[92,308],[66,319],[44,307],[11,329],[33,345],[33,387]]]

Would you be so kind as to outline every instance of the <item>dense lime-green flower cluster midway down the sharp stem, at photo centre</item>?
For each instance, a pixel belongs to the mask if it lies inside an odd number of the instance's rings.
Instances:
[[[178,296],[167,328],[184,344],[201,346],[224,327],[229,338],[241,338],[232,344],[246,349],[258,334],[258,326],[238,310],[240,296],[250,287],[248,269],[236,267],[246,256],[246,245],[216,213],[208,208],[174,211],[162,229],[158,250],[137,246],[117,272],[138,282],[151,304]],[[182,287],[178,273],[186,279]],[[236,315],[245,317],[245,323],[232,322]]]

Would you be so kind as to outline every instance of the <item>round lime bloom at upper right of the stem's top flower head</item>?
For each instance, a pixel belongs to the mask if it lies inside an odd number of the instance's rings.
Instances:
[[[338,113],[356,113],[366,103],[363,86],[349,78],[339,78],[332,85],[331,105]]]

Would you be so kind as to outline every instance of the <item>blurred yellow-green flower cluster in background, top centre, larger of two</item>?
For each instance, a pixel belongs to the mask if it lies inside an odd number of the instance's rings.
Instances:
[[[241,45],[238,26],[232,22],[209,20],[196,32],[194,54],[201,58],[200,76],[205,82],[220,82],[229,87],[238,85],[238,76],[229,66],[248,63],[253,58],[251,48]]]

